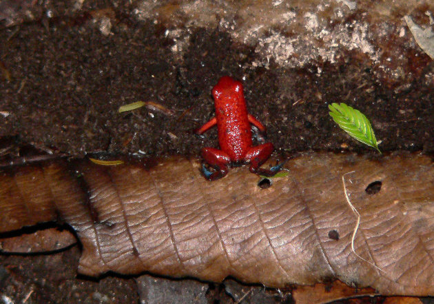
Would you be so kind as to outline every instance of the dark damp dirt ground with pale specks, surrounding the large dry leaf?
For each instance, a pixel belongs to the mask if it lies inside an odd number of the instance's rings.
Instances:
[[[211,88],[226,74],[245,84],[276,156],[374,154],[331,121],[332,102],[366,114],[382,151],[434,152],[428,0],[3,0],[0,22],[0,137],[44,152],[198,154],[217,145],[216,130],[192,130],[214,116]],[[136,101],[147,105],[117,112]],[[77,247],[0,256],[0,303],[176,303],[164,290],[189,288],[76,278],[78,259]],[[193,303],[293,303],[289,291],[196,284]]]

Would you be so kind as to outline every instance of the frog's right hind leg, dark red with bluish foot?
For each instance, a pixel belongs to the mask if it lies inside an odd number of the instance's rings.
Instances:
[[[262,169],[260,166],[269,159],[271,153],[273,153],[274,147],[272,143],[264,143],[263,145],[257,145],[256,147],[250,148],[245,156],[245,161],[250,162],[250,172],[256,173],[264,176],[273,176],[280,169],[282,169],[283,163],[280,165],[275,165],[268,169]]]

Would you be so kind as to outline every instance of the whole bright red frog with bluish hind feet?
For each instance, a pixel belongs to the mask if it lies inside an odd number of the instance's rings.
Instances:
[[[274,150],[272,143],[252,146],[251,127],[255,125],[261,132],[265,127],[254,116],[247,113],[247,106],[242,91],[242,83],[231,77],[220,78],[212,89],[216,116],[195,130],[196,134],[203,134],[209,128],[217,125],[218,144],[220,149],[203,148],[202,157],[209,167],[202,164],[202,174],[205,179],[215,181],[225,176],[229,165],[242,165],[249,163],[249,170],[253,173],[273,176],[282,168],[282,163],[269,170],[260,168]]]

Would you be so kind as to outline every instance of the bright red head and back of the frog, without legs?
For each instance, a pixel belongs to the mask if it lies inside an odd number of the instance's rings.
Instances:
[[[242,161],[252,144],[242,83],[222,77],[212,94],[220,149],[229,154],[231,161]]]

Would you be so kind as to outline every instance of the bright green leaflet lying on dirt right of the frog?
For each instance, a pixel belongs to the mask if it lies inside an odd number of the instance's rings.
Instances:
[[[349,136],[365,145],[369,145],[369,147],[375,148],[381,153],[371,123],[364,114],[345,103],[332,103],[329,105],[329,110],[333,121],[338,123],[340,128],[347,132]]]

